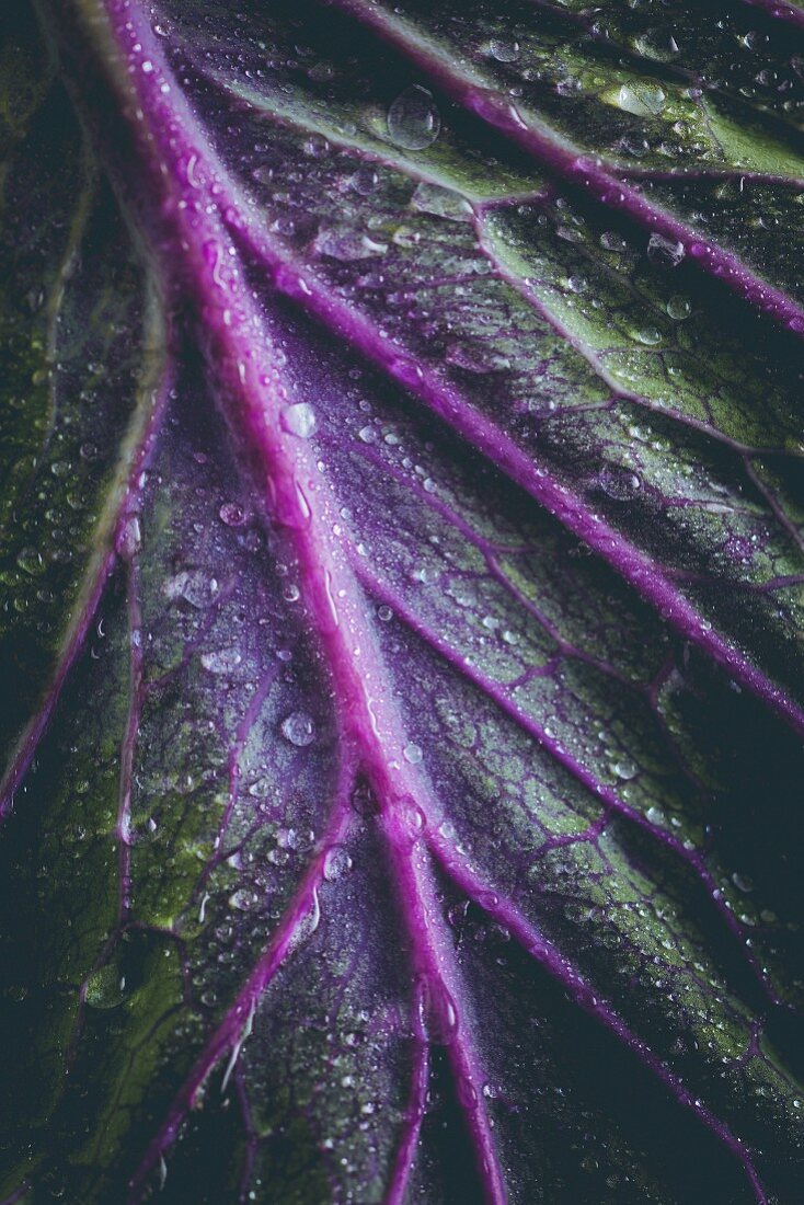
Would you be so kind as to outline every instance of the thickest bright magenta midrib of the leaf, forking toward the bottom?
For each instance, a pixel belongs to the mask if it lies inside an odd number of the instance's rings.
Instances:
[[[182,275],[189,280],[195,305],[204,315],[205,352],[218,400],[235,439],[250,455],[269,518],[286,529],[294,546],[305,586],[306,610],[325,654],[335,694],[341,746],[348,751],[353,772],[366,777],[380,804],[381,829],[412,969],[436,986],[439,1001],[460,999],[454,954],[427,862],[421,853],[409,850],[406,813],[411,801],[426,798],[426,787],[419,771],[404,758],[404,725],[393,693],[386,688],[387,671],[362,592],[333,536],[333,521],[338,515],[334,495],[317,471],[311,448],[282,428],[282,406],[289,401],[292,392],[282,376],[282,360],[275,349],[272,333],[242,283],[236,259],[227,254],[229,236],[219,218],[219,199],[216,202],[216,194],[210,190],[209,169],[199,149],[204,140],[193,116],[142,14],[115,0],[107,5],[107,12],[118,54],[131,64],[140,81],[139,87],[135,86],[137,99],[148,114],[147,133],[153,140],[146,142],[145,153],[152,167],[154,160],[168,167],[168,182],[162,189],[166,194],[163,214],[170,213],[174,237],[182,248]],[[146,60],[152,65],[147,74],[141,71]],[[165,94],[162,86],[168,81],[170,92]],[[159,178],[158,174],[154,176]],[[421,809],[418,803],[413,806]],[[423,815],[423,809],[421,811]],[[327,845],[342,837],[348,817],[347,784],[342,784],[330,816]],[[323,857],[324,851],[309,868],[295,903],[269,950],[180,1089],[169,1117],[135,1174],[135,1192],[175,1136],[198,1086],[223,1053],[236,1045],[243,1017],[256,1006],[292,950],[294,934],[321,883]],[[473,1084],[475,1098],[481,1099],[480,1059],[471,1033],[463,1025],[450,1044],[450,1060],[457,1080]],[[503,1174],[485,1106],[464,1112],[485,1197],[488,1205],[503,1205]],[[409,1171],[410,1159],[404,1164]]]

